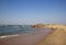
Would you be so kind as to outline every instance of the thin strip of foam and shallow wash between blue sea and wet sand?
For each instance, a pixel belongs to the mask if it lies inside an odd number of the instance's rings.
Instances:
[[[0,38],[8,38],[8,37],[14,37],[14,36],[26,36],[26,35],[30,35],[30,34],[36,34],[38,32],[42,32],[41,30],[52,30],[52,29],[37,29],[37,31],[33,32],[33,33],[25,33],[25,34],[10,34],[10,35],[1,35]]]

